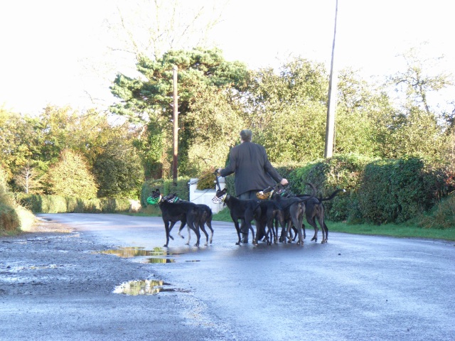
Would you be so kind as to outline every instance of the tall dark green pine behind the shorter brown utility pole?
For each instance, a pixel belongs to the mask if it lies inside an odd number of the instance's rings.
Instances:
[[[117,75],[111,89],[123,102],[114,105],[112,110],[126,115],[131,121],[148,123],[148,131],[161,137],[162,165],[169,163],[164,158],[169,155],[166,153],[166,146],[172,145],[169,141],[172,136],[172,108],[169,104],[172,103],[173,96],[174,65],[178,67],[178,111],[181,128],[178,136],[178,166],[184,173],[188,168],[189,146],[196,137],[205,134],[198,126],[188,124],[191,100],[205,87],[223,90],[229,94],[231,100],[239,99],[242,90],[245,90],[248,72],[244,64],[224,60],[218,49],[195,48],[191,51],[169,51],[159,60],[142,57],[137,69],[143,77]],[[160,154],[159,151],[156,154]],[[166,171],[161,175],[165,176]]]

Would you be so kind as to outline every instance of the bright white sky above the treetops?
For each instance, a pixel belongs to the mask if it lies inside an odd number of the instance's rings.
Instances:
[[[38,114],[47,104],[112,104],[109,85],[134,70],[134,58],[107,55],[116,39],[107,24],[134,1],[144,0],[1,1],[0,107]],[[225,4],[210,31],[225,59],[257,69],[301,56],[329,70],[336,0],[211,1]],[[444,55],[440,70],[455,75],[454,10],[447,0],[338,0],[334,68],[380,79],[404,71],[400,55],[422,46],[426,58]]]

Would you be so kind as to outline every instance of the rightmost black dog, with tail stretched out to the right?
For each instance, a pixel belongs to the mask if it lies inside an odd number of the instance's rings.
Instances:
[[[346,190],[335,190],[330,196],[328,197],[311,197],[306,202],[306,221],[314,227],[314,237],[311,238],[311,241],[318,242],[318,226],[316,225],[316,221],[319,223],[322,232],[322,242],[326,243],[328,239],[328,227],[324,220],[325,215],[325,207],[323,205],[324,201],[332,200],[338,193],[346,192]],[[296,197],[308,197],[308,195],[296,195]],[[303,225],[305,231],[305,225]]]

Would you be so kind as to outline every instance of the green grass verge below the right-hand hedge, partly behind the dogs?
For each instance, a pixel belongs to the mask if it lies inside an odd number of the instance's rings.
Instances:
[[[228,208],[213,215],[213,220],[232,222]],[[328,232],[368,234],[374,236],[410,237],[427,239],[455,240],[455,227],[449,229],[426,229],[414,224],[347,224],[346,222],[326,221]],[[306,224],[308,225],[308,224]],[[308,227],[307,227],[308,228]]]

